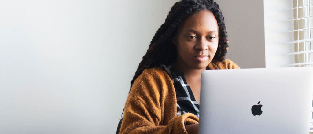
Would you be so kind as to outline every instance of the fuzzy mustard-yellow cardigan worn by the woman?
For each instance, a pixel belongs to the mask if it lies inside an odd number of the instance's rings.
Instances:
[[[236,69],[226,59],[212,61],[210,69]],[[192,113],[177,116],[176,92],[171,78],[159,67],[145,69],[135,80],[125,104],[120,134],[188,134],[187,124],[196,124]]]

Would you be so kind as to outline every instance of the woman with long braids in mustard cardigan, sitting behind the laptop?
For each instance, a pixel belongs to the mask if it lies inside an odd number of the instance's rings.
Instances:
[[[198,133],[201,72],[225,60],[224,17],[213,0],[176,2],[131,81],[120,133]]]

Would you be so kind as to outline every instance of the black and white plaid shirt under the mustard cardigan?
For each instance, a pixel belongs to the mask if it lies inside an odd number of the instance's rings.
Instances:
[[[171,65],[166,67],[162,64],[160,67],[167,72],[174,84],[177,99],[177,116],[190,112],[199,118],[200,105],[196,102],[184,74]]]

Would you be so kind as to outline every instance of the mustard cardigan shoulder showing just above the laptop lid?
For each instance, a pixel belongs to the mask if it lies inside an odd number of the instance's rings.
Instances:
[[[210,69],[239,69],[240,67],[231,61],[230,59],[225,59],[223,61],[212,60],[209,64]]]

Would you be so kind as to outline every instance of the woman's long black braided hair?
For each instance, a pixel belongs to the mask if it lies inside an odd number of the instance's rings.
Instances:
[[[175,36],[177,27],[183,20],[201,10],[212,12],[218,22],[218,49],[213,59],[219,61],[225,59],[228,38],[224,17],[219,9],[219,5],[214,0],[182,0],[174,4],[164,24],[156,31],[146,54],[139,63],[135,76],[131,80],[131,87],[144,69],[158,67],[161,64],[168,66],[176,61],[177,50],[172,42],[172,37]]]

